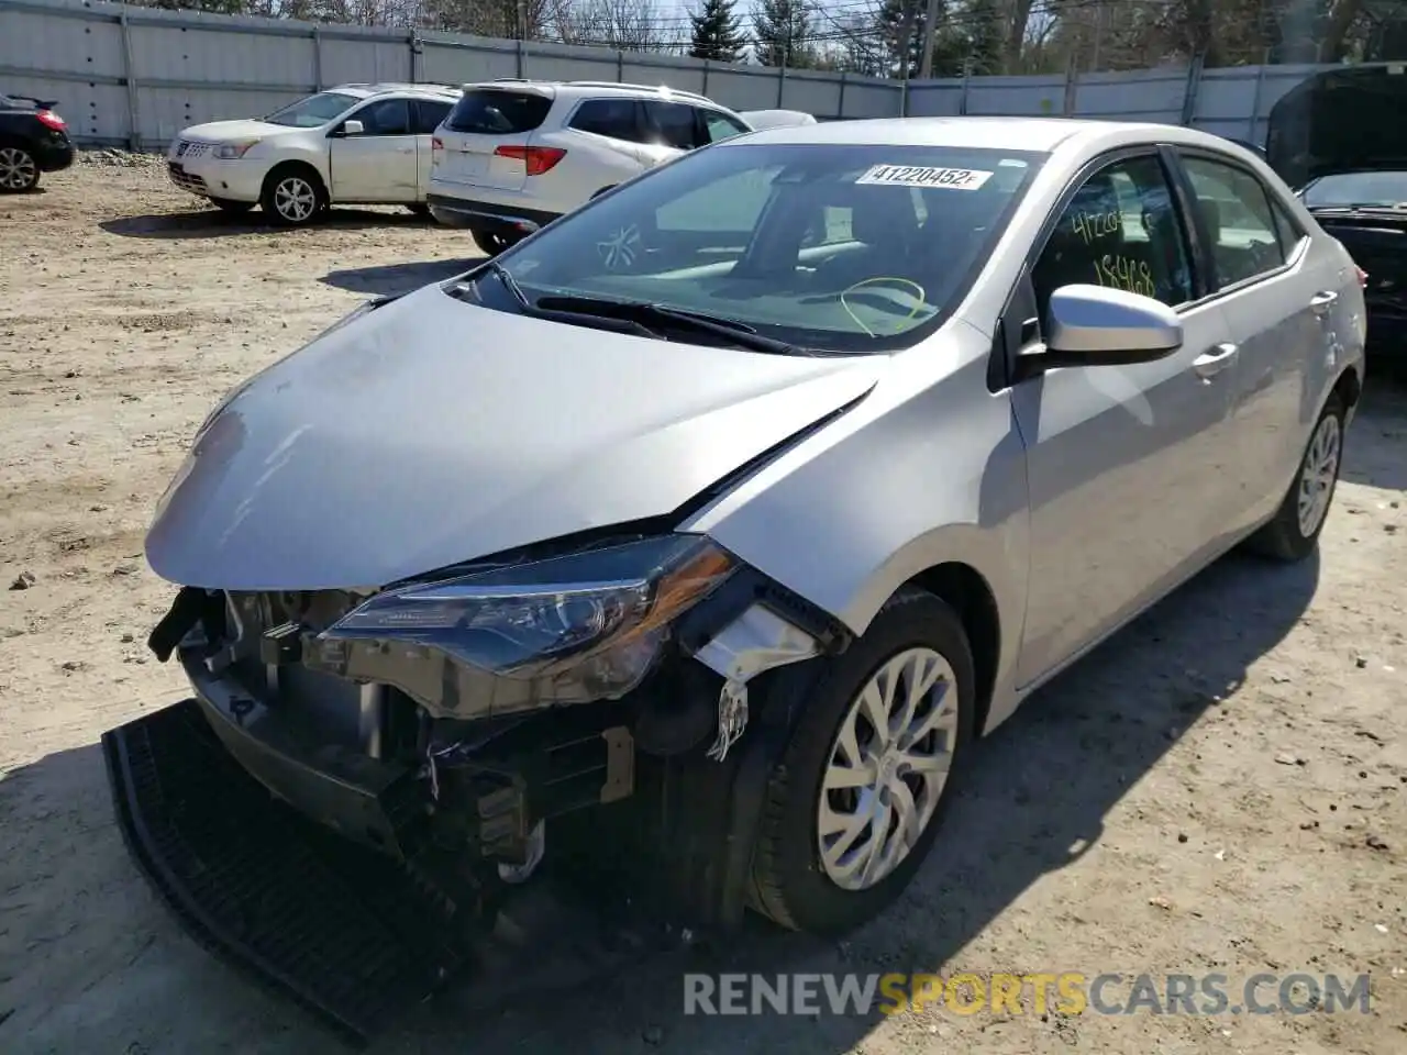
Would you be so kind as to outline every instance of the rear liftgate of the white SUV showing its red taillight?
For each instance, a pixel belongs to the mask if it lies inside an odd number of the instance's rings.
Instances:
[[[550,84],[478,84],[464,90],[439,129],[435,180],[447,193],[464,188],[521,191],[528,183],[522,148],[542,128],[556,90]]]

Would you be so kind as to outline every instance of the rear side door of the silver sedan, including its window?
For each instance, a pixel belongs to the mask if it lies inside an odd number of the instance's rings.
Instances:
[[[1233,374],[1233,526],[1249,528],[1283,501],[1304,453],[1304,430],[1318,414],[1307,404],[1324,388],[1334,345],[1327,309],[1351,276],[1345,263],[1311,253],[1306,232],[1249,167],[1213,151],[1179,156],[1216,298],[1241,349]]]

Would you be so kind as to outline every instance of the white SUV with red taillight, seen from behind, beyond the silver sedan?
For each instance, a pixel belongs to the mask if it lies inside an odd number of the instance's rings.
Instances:
[[[431,215],[498,253],[646,169],[751,131],[732,110],[667,87],[466,84],[435,132]]]

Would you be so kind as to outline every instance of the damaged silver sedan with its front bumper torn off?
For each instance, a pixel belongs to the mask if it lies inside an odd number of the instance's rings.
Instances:
[[[976,736],[1233,546],[1314,551],[1363,336],[1344,248],[1193,129],[685,155],[211,412],[146,537],[193,699],[104,737],[117,816],[363,1034],[582,859],[846,933]]]

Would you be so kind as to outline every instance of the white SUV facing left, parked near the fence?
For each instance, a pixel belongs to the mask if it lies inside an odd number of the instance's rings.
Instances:
[[[172,183],[227,212],[303,226],[331,205],[425,211],[431,134],[459,98],[435,84],[342,84],[267,117],[193,125],[166,153]]]

